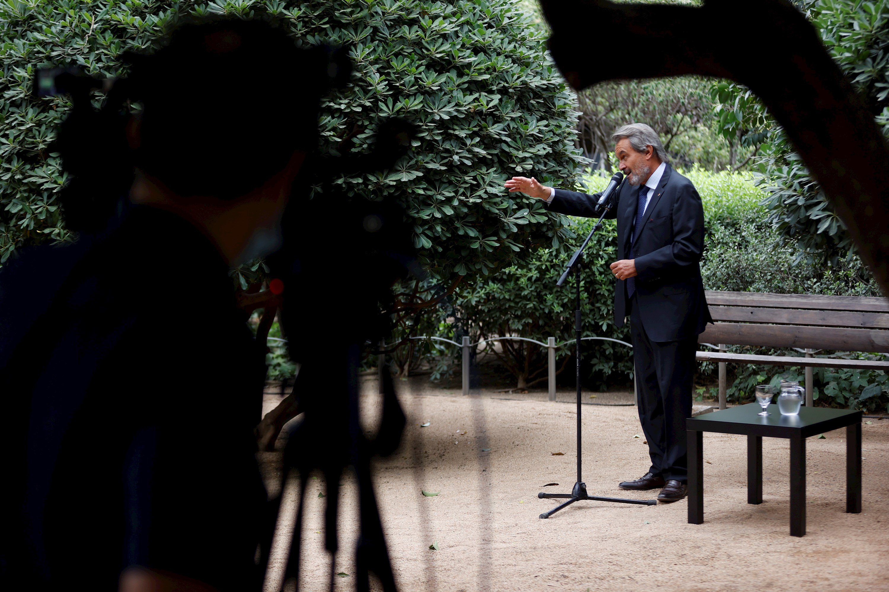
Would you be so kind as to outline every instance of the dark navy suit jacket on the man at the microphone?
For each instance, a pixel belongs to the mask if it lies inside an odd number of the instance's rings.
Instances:
[[[655,342],[676,341],[703,333],[713,322],[701,281],[704,248],[704,209],[692,182],[668,164],[654,190],[633,252],[633,219],[639,187],[624,183],[617,207],[618,259],[635,259],[636,293],[645,333]],[[556,190],[549,209],[569,216],[598,217],[597,199],[587,193]],[[614,287],[614,323],[623,325],[629,312],[624,280]]]

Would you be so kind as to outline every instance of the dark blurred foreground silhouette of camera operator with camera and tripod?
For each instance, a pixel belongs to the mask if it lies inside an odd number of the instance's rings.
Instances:
[[[221,20],[126,56],[130,75],[100,111],[93,81],[57,79],[76,104],[57,149],[80,235],[0,272],[4,588],[260,589],[277,511],[254,457],[266,349],[228,269],[261,256],[286,288],[288,335],[332,335],[292,351],[306,416],[287,460],[330,484],[356,468],[358,582],[371,570],[393,587],[368,462],[396,446],[404,417],[389,387],[382,435],[364,442],[355,376],[411,247],[400,209],[326,181],[388,166],[410,127],[380,130],[362,158],[315,154],[319,98],[348,81],[342,55]],[[310,185],[326,192],[309,199]]]

